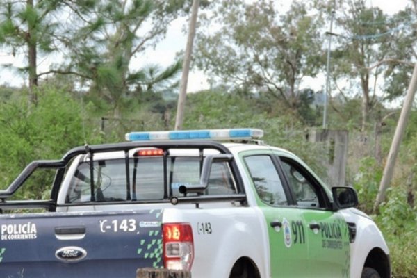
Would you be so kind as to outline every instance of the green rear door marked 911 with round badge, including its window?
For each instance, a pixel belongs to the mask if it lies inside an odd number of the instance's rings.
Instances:
[[[271,277],[306,277],[309,238],[302,211],[288,206],[288,192],[272,156],[245,154],[243,161],[267,224]]]

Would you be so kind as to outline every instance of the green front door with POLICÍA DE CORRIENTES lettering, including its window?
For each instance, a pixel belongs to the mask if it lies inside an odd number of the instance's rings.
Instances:
[[[305,222],[310,277],[350,277],[347,223],[332,211],[322,184],[291,158],[280,158],[295,205]]]

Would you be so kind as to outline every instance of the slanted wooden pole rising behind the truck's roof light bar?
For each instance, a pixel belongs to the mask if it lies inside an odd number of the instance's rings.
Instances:
[[[193,51],[193,41],[195,36],[195,28],[197,24],[197,14],[199,8],[199,0],[193,0],[191,8],[190,26],[188,28],[188,40],[186,45],[186,53],[184,54],[183,70],[181,75],[181,84],[179,86],[177,118],[175,119],[175,130],[181,130],[184,118],[184,108],[186,105],[186,94],[188,84],[188,73],[190,72],[191,53]]]

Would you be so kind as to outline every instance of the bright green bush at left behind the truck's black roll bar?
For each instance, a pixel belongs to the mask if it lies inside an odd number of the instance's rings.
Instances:
[[[0,104],[1,188],[33,160],[59,159],[77,145],[98,142],[92,129],[83,128],[79,103],[55,88],[40,88],[37,106],[27,106],[23,96]],[[85,133],[88,132],[88,133]],[[41,176],[20,190],[17,199],[39,199],[49,192],[50,177]]]

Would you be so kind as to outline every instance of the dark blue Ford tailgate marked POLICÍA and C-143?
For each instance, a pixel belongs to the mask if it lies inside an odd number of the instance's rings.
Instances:
[[[161,210],[1,215],[1,277],[136,277],[163,266]]]

